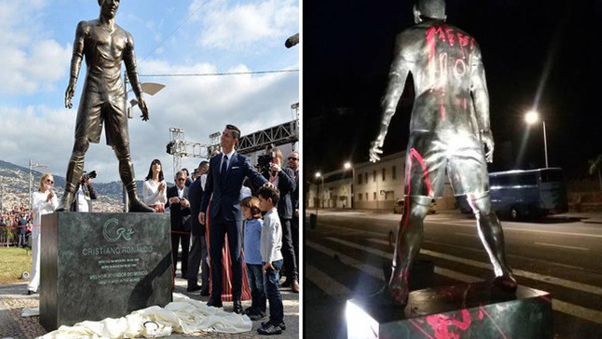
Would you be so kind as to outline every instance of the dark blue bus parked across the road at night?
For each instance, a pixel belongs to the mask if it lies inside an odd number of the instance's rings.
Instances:
[[[512,219],[568,211],[562,168],[489,173],[489,195],[495,213]],[[462,212],[472,213],[465,197],[459,205]]]

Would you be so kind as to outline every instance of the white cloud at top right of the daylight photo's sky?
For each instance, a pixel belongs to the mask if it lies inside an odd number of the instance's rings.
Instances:
[[[200,5],[199,0],[190,10]],[[283,37],[299,31],[299,7],[295,0],[265,0],[231,5],[227,1],[212,3],[196,19],[203,23],[198,42],[206,48],[249,48],[284,43]],[[280,39],[278,39],[280,38]],[[282,42],[281,42],[282,40]]]

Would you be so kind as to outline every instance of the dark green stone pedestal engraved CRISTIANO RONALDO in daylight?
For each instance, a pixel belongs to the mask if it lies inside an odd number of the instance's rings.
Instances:
[[[40,323],[47,331],[172,301],[169,215],[42,216]]]

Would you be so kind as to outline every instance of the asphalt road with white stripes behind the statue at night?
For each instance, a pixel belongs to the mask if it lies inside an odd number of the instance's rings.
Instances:
[[[390,263],[393,253],[388,233],[400,219],[399,214],[319,211],[317,229],[305,227],[306,337],[346,338],[345,302],[383,287],[383,263]],[[502,226],[518,283],[553,296],[554,338],[602,338],[602,224],[559,216],[502,221]],[[427,216],[419,258],[434,262],[433,286],[493,276],[476,221],[467,215]]]

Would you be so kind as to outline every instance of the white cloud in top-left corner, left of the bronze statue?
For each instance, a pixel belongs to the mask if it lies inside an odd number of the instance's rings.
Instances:
[[[34,19],[45,6],[45,0],[0,0],[0,94],[50,90],[67,74],[71,46],[45,39]]]

